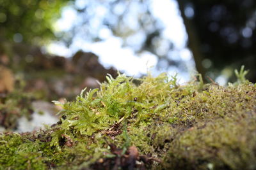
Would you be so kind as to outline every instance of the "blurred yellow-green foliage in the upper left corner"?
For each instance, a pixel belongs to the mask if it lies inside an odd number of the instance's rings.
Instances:
[[[56,38],[52,22],[68,0],[0,0],[0,40],[44,43]]]

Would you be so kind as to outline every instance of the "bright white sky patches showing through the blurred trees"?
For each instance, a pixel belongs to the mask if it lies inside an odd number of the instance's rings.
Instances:
[[[83,7],[89,1],[77,0],[76,7]],[[98,9],[99,8],[99,9]],[[120,9],[122,10],[122,6]],[[106,10],[106,9],[105,9]],[[186,47],[188,40],[188,35],[186,34],[186,29],[183,24],[182,17],[180,16],[180,11],[175,0],[150,0],[150,10],[154,17],[159,18],[163,24],[163,36],[172,41],[174,48],[170,51],[173,60],[179,60],[179,62],[184,62],[186,64],[187,70],[180,70],[177,67],[168,67],[167,70],[157,70],[157,57],[150,52],[143,52],[140,55],[134,53],[134,50],[129,46],[122,46],[122,39],[113,36],[112,32],[106,28],[102,27],[100,29],[100,36],[103,41],[97,43],[92,43],[86,41],[86,39],[75,37],[74,43],[67,48],[61,42],[54,42],[47,46],[47,50],[50,53],[63,55],[65,57],[72,56],[77,50],[82,49],[85,52],[93,52],[99,56],[100,63],[105,67],[116,67],[119,71],[124,72],[128,76],[140,76],[141,74],[147,74],[150,71],[152,74],[159,74],[161,72],[167,72],[170,75],[178,73],[180,83],[189,81],[190,73],[195,70],[195,63],[193,62],[193,55],[190,50]],[[104,16],[104,7],[97,7],[97,15],[100,17]],[[187,11],[188,15],[193,16],[193,10]],[[99,19],[100,20],[100,19]],[[67,6],[63,9],[60,20],[55,24],[56,30],[58,31],[68,31],[71,29],[72,25],[76,25],[81,22],[77,11],[72,7]],[[93,21],[95,27],[97,27],[98,20]],[[129,22],[129,20],[128,20]],[[132,20],[130,21],[132,24]],[[137,39],[140,39],[140,34],[137,34]],[[131,41],[136,45],[136,41]],[[140,41],[140,40],[138,40]],[[164,50],[164,45],[163,45]]]

